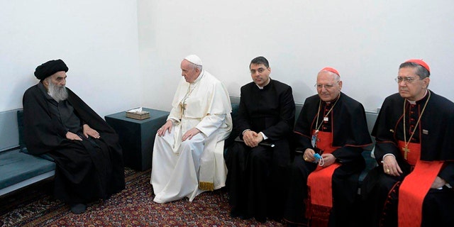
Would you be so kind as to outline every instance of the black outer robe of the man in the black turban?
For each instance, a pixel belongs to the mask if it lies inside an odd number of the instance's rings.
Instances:
[[[55,197],[68,204],[107,199],[125,188],[123,155],[118,135],[70,89],[69,103],[81,123],[101,138],[67,140],[67,128],[51,114],[46,94],[36,84],[23,95],[24,138],[29,153],[48,154],[55,160]]]

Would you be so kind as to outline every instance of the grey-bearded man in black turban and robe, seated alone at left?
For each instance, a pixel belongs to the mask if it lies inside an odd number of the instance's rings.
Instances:
[[[55,197],[80,214],[124,189],[123,157],[114,129],[65,87],[67,71],[60,59],[36,67],[40,82],[23,95],[24,135],[29,153],[55,160]]]

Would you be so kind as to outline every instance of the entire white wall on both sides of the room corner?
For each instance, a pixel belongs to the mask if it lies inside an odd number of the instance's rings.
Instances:
[[[397,91],[409,58],[431,66],[430,88],[454,100],[454,1],[0,1],[0,111],[22,106],[41,63],[61,58],[67,86],[101,116],[136,106],[170,109],[179,63],[196,54],[232,95],[263,55],[295,101],[316,73],[341,72],[343,92],[366,109]]]

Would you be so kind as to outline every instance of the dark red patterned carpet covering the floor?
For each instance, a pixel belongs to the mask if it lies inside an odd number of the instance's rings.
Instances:
[[[242,220],[228,215],[225,192],[204,192],[189,202],[153,202],[150,170],[127,169],[126,189],[111,199],[89,204],[84,214],[53,199],[52,182],[40,182],[18,193],[0,198],[0,226],[282,226],[268,220]]]

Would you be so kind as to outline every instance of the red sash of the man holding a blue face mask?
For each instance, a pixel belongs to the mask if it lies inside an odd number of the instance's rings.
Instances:
[[[314,132],[313,132],[314,133]],[[333,148],[333,133],[319,131],[317,135],[317,148],[323,153],[331,154]],[[306,216],[311,219],[311,226],[328,226],[329,212],[333,208],[333,190],[331,187],[333,172],[341,164],[335,162],[328,167],[317,166],[307,178],[308,204]]]

